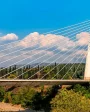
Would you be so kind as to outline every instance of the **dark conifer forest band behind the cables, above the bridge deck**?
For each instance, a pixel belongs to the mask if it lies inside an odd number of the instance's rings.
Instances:
[[[35,67],[31,67],[30,65],[27,65],[19,69],[18,66],[14,65],[3,70],[1,68],[0,76],[8,74],[5,78],[12,79],[20,75],[18,78],[27,79],[33,75],[31,77],[32,79],[41,78],[43,76],[44,76],[44,79],[51,79],[52,77],[54,77],[54,79],[57,79],[57,78],[61,79],[66,74],[64,79],[72,79],[72,74],[75,73],[74,78],[82,79],[84,74],[85,64],[83,63],[80,64],[77,71],[76,69],[77,69],[78,63],[74,64],[72,68],[71,66],[72,64],[68,64],[67,66],[65,66],[65,64],[55,63],[49,66],[35,65]],[[17,68],[18,70],[16,70]],[[58,75],[56,75],[57,73]],[[21,74],[23,75],[21,76]]]

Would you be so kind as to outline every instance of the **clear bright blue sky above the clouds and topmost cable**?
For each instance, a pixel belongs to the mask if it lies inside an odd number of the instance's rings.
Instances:
[[[0,0],[0,32],[23,38],[90,19],[90,0]]]

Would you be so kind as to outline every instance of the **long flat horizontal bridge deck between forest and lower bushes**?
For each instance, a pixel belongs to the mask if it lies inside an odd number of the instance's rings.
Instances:
[[[30,85],[30,86],[39,86],[39,85],[74,85],[74,84],[89,84],[90,80],[40,80],[40,79],[0,79],[0,85],[12,85],[12,86],[24,86],[24,85]]]

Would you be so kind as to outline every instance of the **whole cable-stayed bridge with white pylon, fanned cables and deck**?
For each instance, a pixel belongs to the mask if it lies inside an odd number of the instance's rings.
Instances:
[[[84,84],[90,81],[90,21],[13,40],[1,37],[0,84]],[[8,40],[8,41],[7,41]]]

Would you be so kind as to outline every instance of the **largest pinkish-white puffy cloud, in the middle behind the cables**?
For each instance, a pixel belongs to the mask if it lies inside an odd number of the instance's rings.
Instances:
[[[75,46],[75,43],[68,37],[54,34],[39,34],[38,32],[27,35],[20,43],[22,47],[57,47],[57,49],[65,51],[69,47]]]

